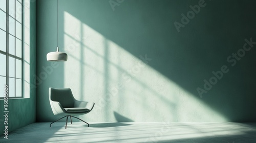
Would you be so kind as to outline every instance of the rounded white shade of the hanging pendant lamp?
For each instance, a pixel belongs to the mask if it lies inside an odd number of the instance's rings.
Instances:
[[[63,52],[59,52],[59,49],[57,47],[56,52],[50,52],[46,55],[47,61],[67,61],[68,60],[68,55]]]

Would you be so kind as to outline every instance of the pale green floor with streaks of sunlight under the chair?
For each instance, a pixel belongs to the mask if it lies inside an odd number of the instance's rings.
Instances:
[[[33,123],[0,142],[256,142],[256,124],[242,123]]]

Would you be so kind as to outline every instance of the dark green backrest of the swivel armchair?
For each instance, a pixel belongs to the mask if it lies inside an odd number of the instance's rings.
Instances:
[[[75,98],[70,88],[49,88],[49,99],[57,101],[63,108],[72,108],[75,104]]]

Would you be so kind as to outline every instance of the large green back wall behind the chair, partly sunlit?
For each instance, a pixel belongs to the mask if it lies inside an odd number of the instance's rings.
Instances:
[[[62,0],[52,63],[57,3],[37,1],[37,122],[58,118],[49,87],[95,102],[88,122],[255,122],[255,4]]]

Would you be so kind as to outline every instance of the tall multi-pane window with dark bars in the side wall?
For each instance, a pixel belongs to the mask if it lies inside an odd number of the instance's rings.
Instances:
[[[0,98],[23,97],[23,1],[0,0]]]

